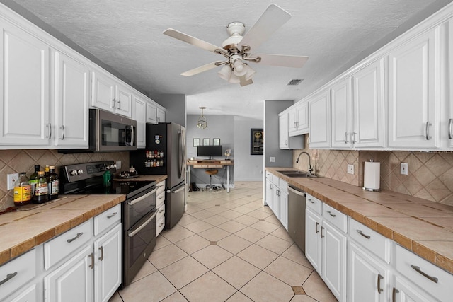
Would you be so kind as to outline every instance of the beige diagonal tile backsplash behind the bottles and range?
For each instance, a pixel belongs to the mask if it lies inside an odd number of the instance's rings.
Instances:
[[[55,165],[59,173],[62,165],[88,163],[91,161],[121,161],[122,170],[129,168],[129,152],[63,154],[57,150],[0,150],[0,210],[13,207],[13,190],[7,190],[7,174],[26,172],[29,177],[35,165],[44,170],[45,165]]]

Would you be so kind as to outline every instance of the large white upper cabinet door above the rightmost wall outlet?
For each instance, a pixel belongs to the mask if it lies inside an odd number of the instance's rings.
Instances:
[[[440,27],[389,53],[389,147],[439,147]]]

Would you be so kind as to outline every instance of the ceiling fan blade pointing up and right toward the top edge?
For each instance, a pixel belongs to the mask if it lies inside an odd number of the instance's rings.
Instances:
[[[239,42],[239,50],[242,45],[248,45],[251,50],[254,50],[265,40],[268,40],[275,30],[287,23],[289,18],[291,18],[291,15],[287,11],[284,11],[280,6],[270,4],[258,21],[243,36],[241,42]]]

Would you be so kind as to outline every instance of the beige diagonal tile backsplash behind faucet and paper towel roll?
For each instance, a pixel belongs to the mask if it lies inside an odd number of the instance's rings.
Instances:
[[[308,135],[304,141],[305,149],[293,151],[294,168],[307,170],[308,157],[295,162],[306,151],[316,174],[362,187],[365,161],[372,159],[381,163],[381,189],[453,205],[452,152],[316,150],[308,148]],[[408,163],[408,175],[400,174],[400,163]],[[354,175],[346,173],[348,164],[354,165]]]

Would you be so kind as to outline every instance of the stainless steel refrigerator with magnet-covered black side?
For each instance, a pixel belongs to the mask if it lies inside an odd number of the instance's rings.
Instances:
[[[139,174],[168,175],[165,226],[173,228],[185,211],[185,128],[175,123],[147,124],[145,149],[130,152]]]

